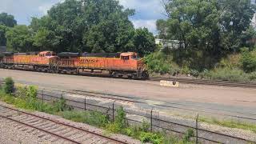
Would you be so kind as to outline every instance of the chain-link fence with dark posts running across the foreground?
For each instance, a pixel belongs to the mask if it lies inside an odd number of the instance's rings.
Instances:
[[[209,122],[201,122],[200,114],[194,114],[194,118],[182,118],[176,115],[166,116],[161,114],[158,106],[143,106],[145,103],[137,103],[138,106],[123,105],[117,98],[98,98],[88,95],[70,94],[56,90],[38,90],[38,98],[42,102],[52,102],[58,98],[65,98],[68,106],[77,110],[99,111],[108,114],[114,121],[118,107],[122,106],[126,112],[127,122],[130,124],[150,123],[151,131],[165,131],[172,134],[183,135],[187,130],[194,130],[194,139],[202,143],[256,143],[256,132],[251,130],[236,129],[218,126]],[[133,102],[136,104],[136,102]],[[253,120],[253,119],[250,119]],[[256,124],[256,120],[254,122]],[[231,126],[232,127],[232,126]]]

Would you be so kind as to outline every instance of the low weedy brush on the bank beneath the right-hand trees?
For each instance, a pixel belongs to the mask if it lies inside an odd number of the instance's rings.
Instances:
[[[190,75],[196,78],[226,80],[232,82],[256,82],[256,53],[244,51],[242,54],[230,54],[216,63],[212,69],[190,69],[188,65],[178,66],[171,53],[162,51],[146,56],[146,63],[151,73],[170,75]]]

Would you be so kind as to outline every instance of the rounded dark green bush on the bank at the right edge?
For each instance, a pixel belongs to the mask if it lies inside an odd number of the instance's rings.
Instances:
[[[256,71],[256,50],[242,52],[242,69],[247,73]]]

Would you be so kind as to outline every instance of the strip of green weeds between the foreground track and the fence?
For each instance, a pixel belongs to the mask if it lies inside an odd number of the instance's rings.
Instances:
[[[20,90],[16,94],[26,94],[26,88],[20,86],[18,88]],[[32,90],[33,91],[33,90]],[[172,136],[170,134],[163,133],[150,133],[149,123],[146,121],[142,122],[141,126],[128,126],[126,123],[126,114],[122,107],[120,107],[118,111],[118,115],[116,116],[116,120],[114,123],[110,122],[110,118],[106,114],[102,114],[101,112],[90,112],[90,111],[77,111],[71,110],[69,107],[66,107],[63,99],[58,102],[53,103],[42,103],[41,100],[33,97],[22,98],[17,95],[17,97],[13,97],[9,94],[4,94],[2,90],[0,90],[0,100],[7,102],[9,104],[13,104],[18,108],[23,108],[26,110],[38,110],[42,112],[46,112],[48,114],[58,114],[63,118],[70,119],[74,122],[85,122],[93,126],[98,126],[105,128],[106,130],[110,130],[114,133],[122,133],[127,134],[131,137],[141,139],[142,142],[152,142],[152,143],[188,143],[190,141],[180,141],[178,137]],[[58,106],[56,106],[58,105]],[[190,132],[187,133],[184,138],[190,138]]]

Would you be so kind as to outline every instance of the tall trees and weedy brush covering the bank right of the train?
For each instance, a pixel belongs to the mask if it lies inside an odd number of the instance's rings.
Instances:
[[[256,32],[250,26],[254,4],[249,0],[162,2],[168,18],[158,20],[158,38],[166,45],[146,56],[150,71],[235,82],[256,81],[252,41]],[[170,40],[178,43],[170,46],[173,44]]]

